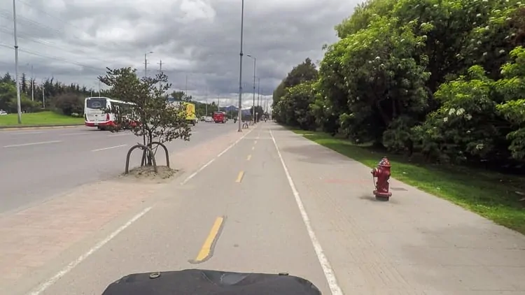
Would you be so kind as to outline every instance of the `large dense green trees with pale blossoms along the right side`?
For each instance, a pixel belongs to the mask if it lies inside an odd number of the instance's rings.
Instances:
[[[525,159],[525,2],[369,0],[276,87],[278,122],[441,162]]]

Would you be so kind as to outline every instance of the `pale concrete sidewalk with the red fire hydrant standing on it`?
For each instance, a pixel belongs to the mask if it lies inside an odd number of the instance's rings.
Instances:
[[[525,294],[521,234],[396,180],[375,201],[370,168],[271,129],[345,294]]]

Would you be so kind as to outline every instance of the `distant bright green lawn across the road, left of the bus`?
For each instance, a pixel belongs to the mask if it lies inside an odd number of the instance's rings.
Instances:
[[[59,124],[83,124],[83,117],[70,117],[66,115],[60,115],[51,111],[45,111],[40,113],[25,113],[22,114],[22,126],[24,125],[59,125]],[[0,116],[0,127],[17,127],[18,115],[9,114]]]

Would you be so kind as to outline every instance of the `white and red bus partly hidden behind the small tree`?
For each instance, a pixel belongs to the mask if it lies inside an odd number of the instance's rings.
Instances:
[[[101,130],[109,126],[115,126],[116,115],[114,113],[106,113],[106,109],[132,105],[134,103],[118,101],[108,97],[87,97],[84,101],[85,126],[97,127]]]

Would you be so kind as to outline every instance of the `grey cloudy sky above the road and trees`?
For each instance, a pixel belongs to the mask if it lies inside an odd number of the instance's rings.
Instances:
[[[337,41],[333,27],[358,0],[246,0],[243,92],[270,97],[286,73]],[[174,89],[204,100],[235,103],[239,93],[241,0],[17,0],[20,71],[39,82],[99,88],[106,66],[167,73]],[[0,1],[0,73],[14,73],[12,1]],[[187,83],[186,83],[187,81]],[[252,94],[245,94],[251,106]],[[248,99],[249,98],[249,99]],[[237,104],[237,103],[235,103]]]

